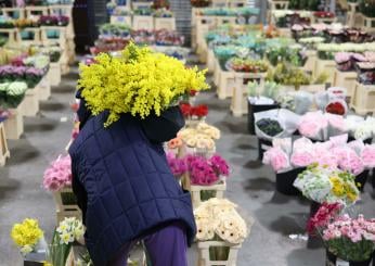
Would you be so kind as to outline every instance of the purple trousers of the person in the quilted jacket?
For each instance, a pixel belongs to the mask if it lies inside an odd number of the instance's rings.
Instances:
[[[126,266],[129,252],[138,241],[143,241],[152,266],[188,266],[185,227],[170,224],[140,240],[126,243],[107,266]]]

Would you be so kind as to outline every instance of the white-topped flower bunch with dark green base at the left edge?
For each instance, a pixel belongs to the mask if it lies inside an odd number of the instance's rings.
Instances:
[[[0,106],[16,109],[24,100],[27,85],[21,81],[0,84]]]

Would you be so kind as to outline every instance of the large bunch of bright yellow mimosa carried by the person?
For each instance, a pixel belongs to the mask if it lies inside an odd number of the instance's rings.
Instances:
[[[81,64],[80,71],[78,88],[88,109],[93,115],[108,111],[105,126],[118,121],[122,113],[142,119],[151,114],[159,116],[191,90],[208,89],[205,71],[186,68],[176,59],[134,43],[118,58],[102,53],[95,63]]]

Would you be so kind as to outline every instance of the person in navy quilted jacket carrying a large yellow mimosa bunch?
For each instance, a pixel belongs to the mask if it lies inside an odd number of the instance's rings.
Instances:
[[[185,266],[196,232],[191,197],[161,143],[183,127],[178,106],[207,89],[205,72],[130,43],[120,56],[80,66],[81,130],[69,149],[73,189],[94,265],[126,265],[143,241],[153,266]]]

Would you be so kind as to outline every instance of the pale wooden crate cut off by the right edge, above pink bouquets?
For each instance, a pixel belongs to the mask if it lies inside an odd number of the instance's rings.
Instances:
[[[357,114],[375,113],[375,85],[363,85],[355,81],[354,93],[350,102]]]

